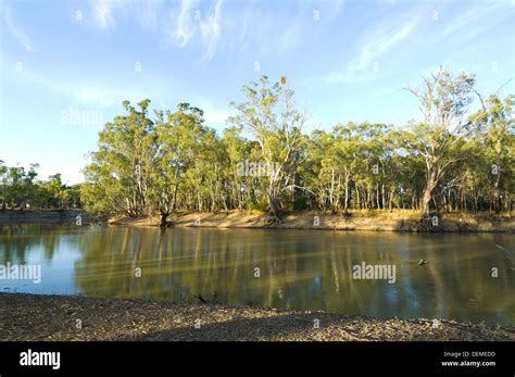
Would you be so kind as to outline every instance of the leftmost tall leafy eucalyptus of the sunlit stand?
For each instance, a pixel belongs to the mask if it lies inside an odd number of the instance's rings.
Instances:
[[[154,123],[148,117],[150,100],[139,109],[124,101],[127,114],[115,116],[99,133],[99,149],[84,169],[81,188],[85,203],[99,212],[141,216],[152,210]]]

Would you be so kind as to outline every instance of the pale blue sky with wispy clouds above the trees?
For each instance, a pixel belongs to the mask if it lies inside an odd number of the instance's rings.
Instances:
[[[187,101],[223,129],[230,100],[285,75],[310,115],[405,124],[402,88],[439,64],[495,91],[515,72],[515,1],[0,0],[0,160],[83,180],[124,99]],[[515,92],[515,79],[503,92]],[[67,122],[79,114],[80,122]]]

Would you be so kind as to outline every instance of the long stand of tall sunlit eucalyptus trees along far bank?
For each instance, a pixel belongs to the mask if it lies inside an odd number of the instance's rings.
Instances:
[[[511,211],[514,96],[483,98],[475,85],[441,68],[406,88],[420,122],[311,135],[293,91],[266,76],[243,86],[221,136],[188,103],[149,115],[149,100],[125,101],[99,134],[81,199],[96,212],[159,212],[163,224],[177,210],[256,209],[272,221],[300,210]]]

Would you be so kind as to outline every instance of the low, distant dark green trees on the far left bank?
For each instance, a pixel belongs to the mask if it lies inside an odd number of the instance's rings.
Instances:
[[[51,175],[48,180],[37,179],[38,167],[38,164],[32,164],[28,169],[5,166],[0,160],[0,211],[80,206],[78,186],[63,184],[59,173]]]

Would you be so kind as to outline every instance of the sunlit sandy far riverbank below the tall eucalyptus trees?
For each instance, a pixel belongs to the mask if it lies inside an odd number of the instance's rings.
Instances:
[[[353,211],[349,215],[302,213],[285,216],[280,224],[267,225],[266,214],[233,212],[229,214],[184,213],[169,216],[168,225],[176,227],[215,228],[278,228],[414,231],[419,221],[415,211]],[[116,217],[111,225],[158,226],[160,218]],[[515,233],[515,222],[508,215],[442,214],[428,230],[442,233]]]

